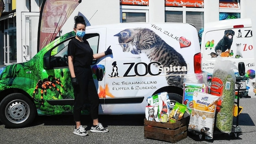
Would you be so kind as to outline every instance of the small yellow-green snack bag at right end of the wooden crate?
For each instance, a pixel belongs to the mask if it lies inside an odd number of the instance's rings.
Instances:
[[[174,108],[169,113],[169,122],[175,123],[176,121],[179,121],[182,118],[184,112],[186,111],[186,108],[187,106],[185,106],[184,104],[176,102]]]

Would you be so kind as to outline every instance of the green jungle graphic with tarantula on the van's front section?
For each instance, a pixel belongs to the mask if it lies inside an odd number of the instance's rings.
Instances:
[[[43,69],[45,67],[43,60],[47,61],[50,49],[73,36],[75,36],[75,33],[70,32],[57,38],[39,51],[30,61],[0,68],[0,91],[8,88],[12,88],[13,91],[15,91],[15,88],[25,91],[30,97],[32,96],[38,114],[72,113],[72,103],[70,105],[51,103],[54,100],[74,99],[69,69],[66,63],[67,56],[55,57],[58,65],[66,66],[66,68],[45,70]],[[54,56],[59,53],[58,47],[49,51],[51,52],[51,64],[54,64],[52,60],[55,60]],[[43,59],[40,59],[39,55],[44,55]]]

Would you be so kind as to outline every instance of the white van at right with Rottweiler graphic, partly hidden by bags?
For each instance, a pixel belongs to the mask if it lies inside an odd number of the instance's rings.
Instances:
[[[241,97],[255,97],[255,62],[251,19],[228,19],[204,24],[201,42],[202,71],[213,74],[215,59],[221,56],[236,66],[245,64]],[[239,77],[238,70],[234,70]],[[236,89],[238,89],[236,85]]]

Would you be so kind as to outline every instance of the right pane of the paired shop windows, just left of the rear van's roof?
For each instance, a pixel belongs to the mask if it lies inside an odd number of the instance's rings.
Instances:
[[[204,28],[204,12],[186,12],[186,23],[191,23],[195,26],[197,32]]]

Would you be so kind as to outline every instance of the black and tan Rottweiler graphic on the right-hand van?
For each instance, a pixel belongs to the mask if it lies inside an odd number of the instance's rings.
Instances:
[[[233,36],[233,30],[225,30],[223,38],[219,40],[215,47],[215,52],[217,53],[217,50],[221,50],[221,52],[225,52],[226,50],[228,50],[228,52],[230,52],[230,48],[233,42]]]

